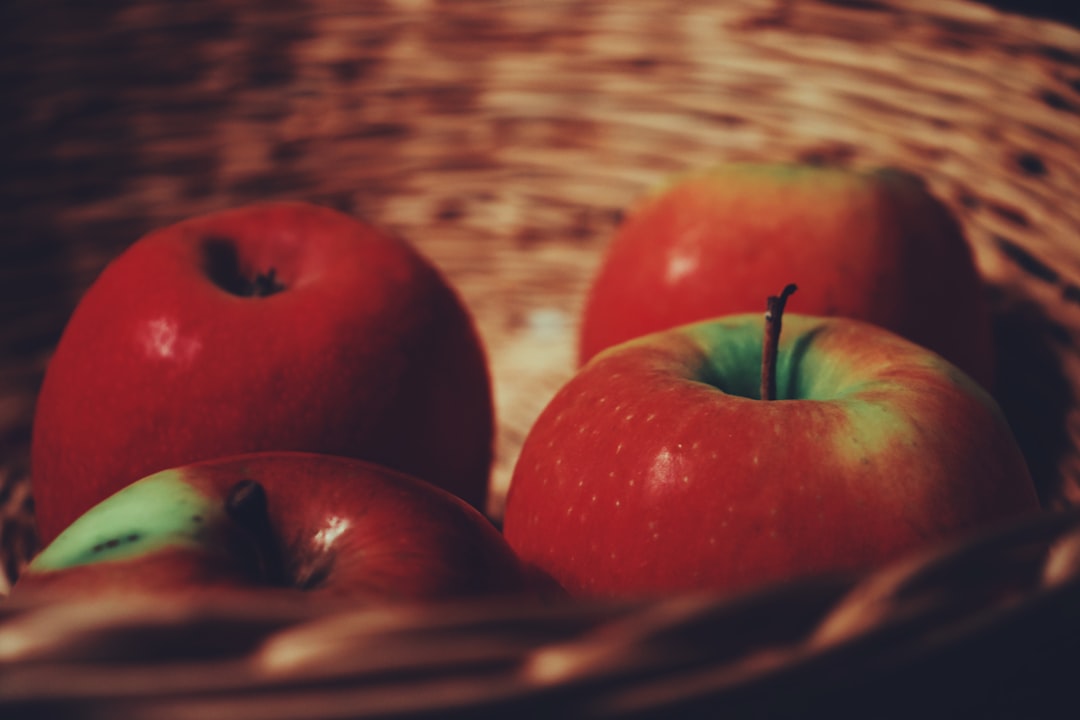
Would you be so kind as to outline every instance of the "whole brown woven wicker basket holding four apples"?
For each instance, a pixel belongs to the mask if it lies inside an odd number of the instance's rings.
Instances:
[[[288,198],[415,242],[487,344],[501,498],[621,209],[714,160],[926,178],[993,291],[1048,508],[735,598],[0,601],[0,717],[1080,716],[1077,29],[961,0],[9,0],[0,42],[0,594],[36,549],[50,350],[148,229]]]

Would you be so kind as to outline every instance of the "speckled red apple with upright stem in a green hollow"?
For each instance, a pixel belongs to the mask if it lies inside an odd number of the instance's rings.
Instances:
[[[801,289],[800,289],[801,293]],[[991,397],[859,321],[760,314],[608,349],[529,432],[503,533],[573,595],[739,590],[865,570],[1039,510]]]

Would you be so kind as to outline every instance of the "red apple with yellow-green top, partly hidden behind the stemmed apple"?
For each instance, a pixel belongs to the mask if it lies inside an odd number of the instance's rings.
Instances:
[[[673,178],[611,240],[585,301],[580,358],[756,312],[788,282],[801,313],[880,325],[993,389],[990,314],[963,232],[895,169],[732,163]]]

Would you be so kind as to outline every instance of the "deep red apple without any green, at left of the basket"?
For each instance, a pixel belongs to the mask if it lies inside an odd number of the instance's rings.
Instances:
[[[407,243],[303,203],[188,219],[114,259],[64,330],[33,425],[38,530],[260,450],[362,458],[484,511],[492,415],[472,318]]]

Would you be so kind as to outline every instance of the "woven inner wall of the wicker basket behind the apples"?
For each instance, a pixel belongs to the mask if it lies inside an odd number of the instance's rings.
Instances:
[[[1076,28],[961,0],[15,0],[3,21],[0,589],[36,548],[51,349],[146,231],[302,199],[415,243],[488,350],[498,500],[622,213],[724,160],[922,176],[975,250],[1040,495],[1080,499]]]

